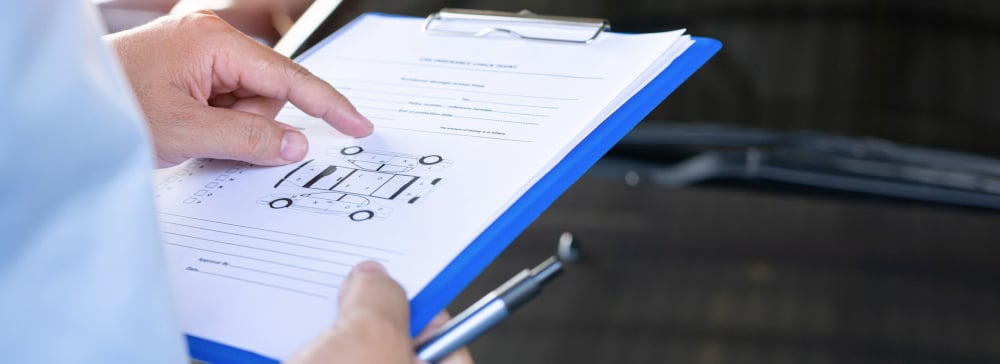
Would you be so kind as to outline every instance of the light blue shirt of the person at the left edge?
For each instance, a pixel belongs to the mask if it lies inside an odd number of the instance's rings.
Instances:
[[[187,361],[148,132],[96,10],[0,3],[0,361]]]

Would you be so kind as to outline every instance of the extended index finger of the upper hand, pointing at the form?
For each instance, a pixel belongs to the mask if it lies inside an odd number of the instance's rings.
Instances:
[[[344,134],[363,137],[372,133],[372,123],[326,81],[242,34],[233,35],[237,39],[220,50],[214,65],[213,71],[222,82],[238,83],[260,96],[288,100]]]

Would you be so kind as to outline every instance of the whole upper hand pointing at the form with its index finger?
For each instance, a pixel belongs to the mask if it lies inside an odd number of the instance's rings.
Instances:
[[[286,101],[344,134],[372,132],[328,83],[211,12],[164,17],[107,39],[149,123],[160,167],[195,157],[301,160],[305,135],[274,120]]]

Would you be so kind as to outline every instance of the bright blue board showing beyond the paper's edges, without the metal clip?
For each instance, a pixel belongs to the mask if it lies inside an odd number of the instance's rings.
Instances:
[[[313,49],[319,48],[335,36],[327,38]],[[684,51],[684,54],[577,144],[562,161],[528,189],[410,301],[411,336],[416,336],[556,198],[722,49],[722,43],[718,40],[704,37],[692,37],[692,39],[695,41],[694,44]],[[311,53],[311,51],[304,53],[298,60],[309,57]],[[198,360],[210,363],[279,362],[273,358],[197,336],[186,336],[191,357]]]

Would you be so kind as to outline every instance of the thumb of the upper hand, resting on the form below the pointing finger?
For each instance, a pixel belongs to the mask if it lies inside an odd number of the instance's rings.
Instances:
[[[173,134],[170,145],[157,146],[161,164],[191,157],[233,159],[259,165],[282,165],[302,160],[309,150],[299,130],[265,116],[216,107],[200,107],[184,125],[153,126],[154,134]],[[169,129],[163,130],[163,129]]]

